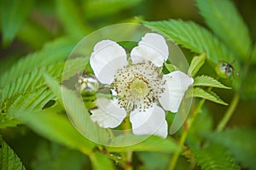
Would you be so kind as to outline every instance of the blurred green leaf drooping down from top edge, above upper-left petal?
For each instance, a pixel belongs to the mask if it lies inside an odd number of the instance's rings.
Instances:
[[[56,0],[55,5],[61,24],[70,36],[83,38],[90,32],[83,20],[84,14],[79,13],[76,1]]]

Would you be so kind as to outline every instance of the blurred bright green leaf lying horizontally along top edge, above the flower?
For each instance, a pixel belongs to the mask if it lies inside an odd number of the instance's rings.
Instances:
[[[84,13],[87,18],[96,18],[114,14],[125,8],[132,8],[142,0],[89,0],[84,1]]]

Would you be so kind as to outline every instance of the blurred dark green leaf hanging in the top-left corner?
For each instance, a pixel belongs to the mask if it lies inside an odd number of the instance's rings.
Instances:
[[[28,14],[32,9],[32,0],[22,1],[22,0],[1,0],[0,3],[0,20],[3,31],[3,44],[9,45],[20,27],[23,25]]]

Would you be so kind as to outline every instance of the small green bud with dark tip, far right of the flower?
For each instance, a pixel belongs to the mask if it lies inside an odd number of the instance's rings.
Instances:
[[[239,73],[233,67],[234,62],[235,60],[231,63],[227,63],[224,61],[219,62],[218,65],[215,67],[215,71],[217,72],[218,76],[221,78],[230,78],[234,77],[234,74],[236,73],[236,77],[239,77]]]

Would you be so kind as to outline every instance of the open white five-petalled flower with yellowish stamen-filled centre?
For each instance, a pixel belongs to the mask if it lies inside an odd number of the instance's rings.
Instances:
[[[90,65],[102,84],[110,85],[113,99],[98,98],[98,109],[90,116],[100,127],[117,127],[130,116],[134,134],[154,134],[166,138],[166,111],[177,112],[193,78],[182,71],[160,77],[160,67],[168,58],[164,37],[148,33],[131,50],[128,62],[125,49],[117,42],[97,42]],[[130,113],[130,115],[127,115]]]

